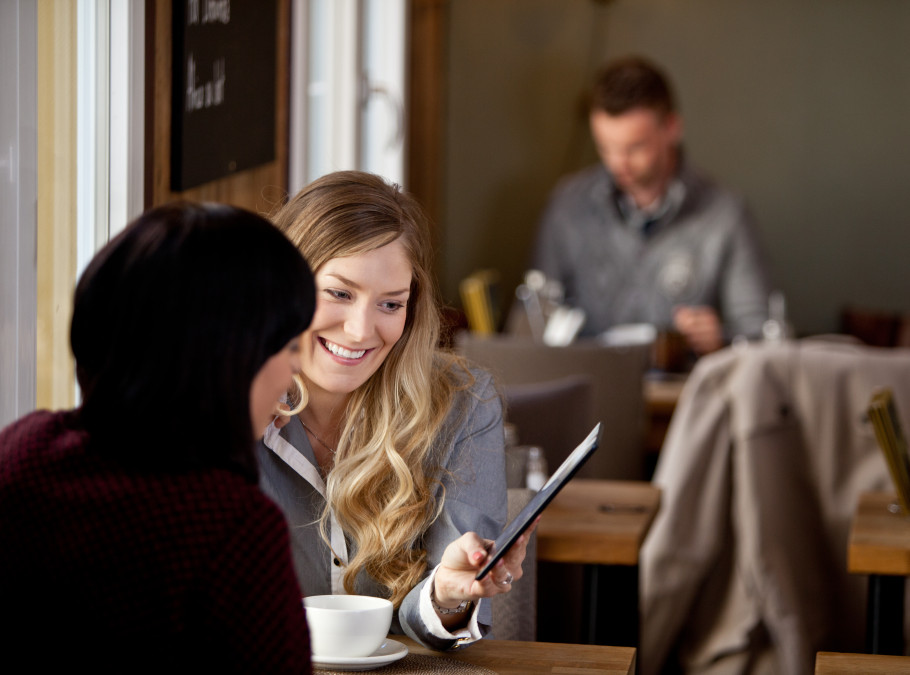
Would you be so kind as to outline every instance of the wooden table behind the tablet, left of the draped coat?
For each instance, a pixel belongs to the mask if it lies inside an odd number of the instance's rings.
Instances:
[[[589,644],[638,645],[638,555],[659,508],[651,483],[576,478],[544,511],[537,559],[585,566]]]

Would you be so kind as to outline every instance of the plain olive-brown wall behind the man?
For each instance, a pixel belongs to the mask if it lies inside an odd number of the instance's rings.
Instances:
[[[511,297],[558,177],[593,152],[579,99],[630,52],[674,80],[689,156],[742,193],[801,334],[847,303],[910,313],[910,3],[451,0],[442,267]]]

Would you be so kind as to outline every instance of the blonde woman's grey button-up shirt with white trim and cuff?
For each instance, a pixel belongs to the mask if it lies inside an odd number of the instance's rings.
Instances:
[[[494,539],[505,526],[508,496],[505,478],[505,450],[502,403],[491,376],[472,371],[476,382],[470,390],[459,392],[440,438],[450,439],[442,452],[445,506],[440,516],[423,534],[427,550],[427,574],[440,562],[451,542],[468,531]],[[282,458],[285,455],[295,466]],[[306,595],[342,593],[343,549],[353,555],[353,544],[332,533],[335,553],[319,534],[318,520],[325,505],[325,485],[315,468],[316,459],[306,433],[297,418],[281,430],[271,427],[257,448],[263,490],[284,509],[292,533],[292,548],[300,587]],[[298,470],[299,469],[299,470]],[[304,477],[303,474],[307,474]],[[436,493],[439,496],[439,491]],[[338,537],[341,537],[340,541]],[[395,613],[393,631],[404,631],[433,649],[450,649],[466,644],[470,638],[443,632],[432,626],[435,614],[422,612],[429,605],[421,593],[428,587],[421,581],[405,597]],[[372,579],[361,575],[357,592],[382,596],[383,590]],[[424,594],[425,595],[425,594]],[[423,600],[423,602],[422,602]],[[481,600],[476,619],[479,633],[485,635],[492,624],[490,603]],[[430,615],[429,617],[427,615]],[[429,618],[429,622],[427,619]],[[436,619],[438,622],[438,619]]]

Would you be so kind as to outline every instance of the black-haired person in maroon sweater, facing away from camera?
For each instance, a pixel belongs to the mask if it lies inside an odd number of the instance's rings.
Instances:
[[[253,447],[314,294],[285,236],[229,206],[154,208],[95,256],[70,331],[82,404],[0,432],[8,662],[310,672]]]

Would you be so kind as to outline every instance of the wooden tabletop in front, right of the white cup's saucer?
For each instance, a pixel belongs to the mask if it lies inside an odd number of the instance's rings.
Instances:
[[[392,636],[408,646],[411,654],[451,659],[489,668],[501,675],[534,673],[573,673],[575,675],[613,675],[635,672],[635,650],[631,647],[572,645],[553,642],[479,640],[455,652],[434,652],[408,637]],[[405,657],[407,658],[407,657]]]

